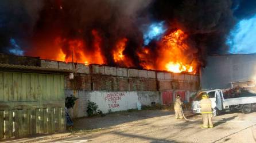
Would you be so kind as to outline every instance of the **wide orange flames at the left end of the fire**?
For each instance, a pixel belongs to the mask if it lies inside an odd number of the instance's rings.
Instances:
[[[56,37],[51,46],[42,45],[40,49],[33,51],[32,55],[56,61],[104,64],[106,60],[101,50],[102,39],[96,30],[92,30],[91,34],[94,37],[94,41],[92,41],[94,50],[90,50],[83,39]]]

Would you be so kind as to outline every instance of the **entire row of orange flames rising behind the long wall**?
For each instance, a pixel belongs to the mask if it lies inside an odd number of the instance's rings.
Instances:
[[[78,63],[97,63],[108,64],[106,53],[103,54],[103,41],[97,30],[91,31],[92,44],[88,46],[84,39],[68,39],[56,37],[52,45],[40,43],[41,47],[33,55],[39,55],[41,58],[52,59],[56,61],[78,62]],[[115,65],[122,67],[135,67],[139,63],[143,69],[167,70],[169,72],[196,73],[196,61],[186,55],[189,46],[185,43],[187,34],[182,30],[175,30],[165,34],[157,41],[157,48],[141,47],[136,51],[139,61],[133,61],[125,53],[129,39],[123,37],[110,48],[111,57]],[[45,48],[45,47],[46,48]],[[104,50],[106,51],[106,50]],[[51,53],[51,54],[49,54]]]

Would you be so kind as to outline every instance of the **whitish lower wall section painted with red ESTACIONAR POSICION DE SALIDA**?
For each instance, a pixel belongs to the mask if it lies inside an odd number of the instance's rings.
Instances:
[[[74,94],[73,90],[65,90],[65,96],[71,94]],[[75,96],[79,100],[76,101],[73,109],[69,109],[72,118],[87,116],[88,100],[95,102],[103,113],[108,113],[108,109],[111,109],[111,112],[137,109],[138,101],[141,102],[141,105],[151,105],[152,102],[161,103],[159,92],[87,92],[79,90],[75,92]]]

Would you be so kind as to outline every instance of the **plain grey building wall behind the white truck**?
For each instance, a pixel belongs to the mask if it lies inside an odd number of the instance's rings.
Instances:
[[[256,54],[211,55],[200,69],[203,90],[255,86]]]

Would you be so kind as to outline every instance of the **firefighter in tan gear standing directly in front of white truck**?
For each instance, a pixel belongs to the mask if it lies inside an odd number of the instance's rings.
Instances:
[[[202,100],[200,101],[201,114],[203,118],[203,126],[201,128],[213,128],[212,125],[212,101],[209,99],[207,93],[203,94]]]

